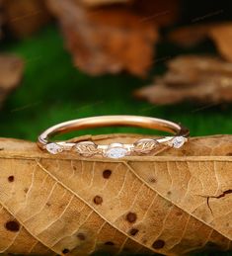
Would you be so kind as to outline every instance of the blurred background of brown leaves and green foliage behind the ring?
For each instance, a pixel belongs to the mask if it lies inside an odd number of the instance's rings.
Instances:
[[[2,137],[115,114],[232,131],[229,0],[0,0],[0,29]]]

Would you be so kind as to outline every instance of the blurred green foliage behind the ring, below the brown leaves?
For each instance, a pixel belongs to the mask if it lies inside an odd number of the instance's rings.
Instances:
[[[133,98],[133,90],[151,83],[154,74],[164,72],[165,61],[155,61],[147,80],[128,74],[91,77],[73,66],[63,44],[57,29],[49,27],[31,39],[1,45],[3,51],[21,55],[26,62],[22,84],[0,111],[1,136],[36,140],[41,130],[56,123],[113,114],[152,116],[181,122],[191,129],[192,135],[231,133],[230,106],[186,103],[160,107]],[[160,45],[158,53],[157,59],[165,60],[180,53],[180,49]],[[88,131],[120,132],[125,129]],[[129,131],[139,130],[130,128]]]

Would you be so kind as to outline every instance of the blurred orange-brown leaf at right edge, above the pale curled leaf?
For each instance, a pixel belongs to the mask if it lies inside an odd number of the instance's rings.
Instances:
[[[169,35],[171,41],[184,46],[193,46],[205,38],[211,39],[220,54],[232,61],[232,23],[195,25],[178,29]]]

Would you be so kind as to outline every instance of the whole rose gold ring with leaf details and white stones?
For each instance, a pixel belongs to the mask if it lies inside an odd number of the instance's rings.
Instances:
[[[134,143],[115,142],[111,144],[97,144],[93,141],[54,141],[52,136],[73,130],[100,127],[136,127],[150,128],[171,132],[173,135],[161,138],[141,138]],[[39,135],[38,145],[51,154],[63,151],[74,151],[81,156],[91,157],[101,155],[109,158],[121,158],[129,155],[143,155],[150,153],[160,145],[180,148],[188,141],[189,129],[166,120],[139,116],[100,116],[78,119],[47,128]]]

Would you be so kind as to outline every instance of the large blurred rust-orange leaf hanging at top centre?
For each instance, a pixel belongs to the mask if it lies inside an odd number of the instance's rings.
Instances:
[[[74,0],[49,0],[75,64],[93,75],[127,70],[144,76],[158,40],[154,23],[122,6],[86,8]]]

